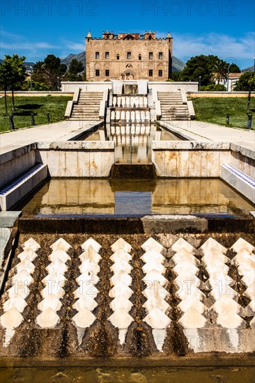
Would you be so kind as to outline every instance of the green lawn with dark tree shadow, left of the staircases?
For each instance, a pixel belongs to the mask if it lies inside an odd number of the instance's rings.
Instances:
[[[7,97],[8,114],[13,114],[15,129],[31,126],[31,112],[33,112],[36,125],[47,124],[47,112],[52,123],[64,119],[65,108],[72,97],[45,96],[45,97],[15,97],[15,112],[11,111],[12,100]],[[9,130],[9,118],[5,116],[4,97],[0,98],[0,132]]]

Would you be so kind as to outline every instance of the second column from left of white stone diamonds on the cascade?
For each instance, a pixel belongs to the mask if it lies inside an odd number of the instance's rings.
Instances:
[[[61,298],[65,294],[63,287],[67,279],[65,273],[68,271],[66,262],[70,260],[67,251],[71,249],[70,244],[59,238],[54,242],[50,249],[48,259],[51,261],[46,267],[47,276],[42,279],[45,286],[40,295],[42,301],[38,303],[38,309],[41,313],[36,317],[36,325],[42,329],[54,329],[59,324],[60,318],[57,314],[62,307]]]

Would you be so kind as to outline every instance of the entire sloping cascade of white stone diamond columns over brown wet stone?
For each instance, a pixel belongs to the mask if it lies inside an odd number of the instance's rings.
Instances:
[[[33,237],[23,242],[1,297],[0,355],[20,356],[26,342],[36,354],[41,338],[55,336],[53,344],[71,339],[76,356],[95,356],[97,342],[132,356],[139,331],[146,355],[173,352],[177,339],[185,353],[254,351],[252,244],[148,237],[137,250],[130,242],[118,237],[106,249],[90,237],[75,250],[59,237],[48,252]]]

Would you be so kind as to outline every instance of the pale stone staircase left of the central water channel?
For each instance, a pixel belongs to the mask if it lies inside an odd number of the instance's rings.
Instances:
[[[77,104],[72,107],[70,120],[99,120],[102,92],[80,91]]]

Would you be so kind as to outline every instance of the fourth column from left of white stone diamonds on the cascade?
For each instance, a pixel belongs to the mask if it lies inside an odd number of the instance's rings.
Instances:
[[[111,310],[114,311],[114,313],[111,314],[108,320],[118,329],[118,340],[121,345],[125,343],[127,329],[134,321],[129,314],[132,308],[132,303],[129,298],[133,293],[130,288],[132,284],[132,278],[130,276],[130,272],[132,271],[132,266],[130,265],[130,261],[132,260],[132,256],[130,255],[131,250],[132,246],[123,240],[123,238],[119,238],[111,245],[111,251],[114,251],[110,257],[111,261],[114,262],[111,266],[111,272],[113,272],[114,275],[111,276],[110,279],[112,288],[109,291],[109,296],[114,298],[110,303]]]

